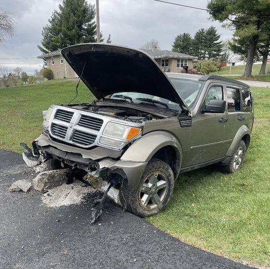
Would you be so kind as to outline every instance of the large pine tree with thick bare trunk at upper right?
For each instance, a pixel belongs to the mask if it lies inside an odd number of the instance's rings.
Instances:
[[[248,40],[246,66],[243,76],[252,76],[254,57],[262,28],[270,32],[269,0],[210,0],[207,4],[211,18],[235,30],[234,37]]]

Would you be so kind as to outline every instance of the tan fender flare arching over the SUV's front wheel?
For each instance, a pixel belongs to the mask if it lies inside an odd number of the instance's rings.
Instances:
[[[152,131],[136,140],[123,154],[121,161],[148,162],[155,153],[165,147],[175,147],[182,164],[182,147],[175,136],[167,131]]]

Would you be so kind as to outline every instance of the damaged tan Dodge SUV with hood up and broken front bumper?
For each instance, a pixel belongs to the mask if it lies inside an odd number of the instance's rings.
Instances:
[[[44,111],[34,155],[113,182],[141,216],[159,213],[181,172],[243,164],[253,126],[248,85],[215,75],[165,74],[147,53],[108,44],[62,50],[97,101]]]

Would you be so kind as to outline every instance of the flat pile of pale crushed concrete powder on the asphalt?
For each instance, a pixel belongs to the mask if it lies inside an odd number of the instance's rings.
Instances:
[[[72,184],[64,184],[49,190],[42,197],[42,201],[50,207],[80,204],[88,193],[95,192],[90,186],[82,187],[80,181],[74,181]]]

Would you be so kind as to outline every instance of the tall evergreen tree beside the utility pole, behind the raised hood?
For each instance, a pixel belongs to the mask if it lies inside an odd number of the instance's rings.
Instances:
[[[96,42],[95,8],[86,0],[63,0],[59,11],[54,10],[49,24],[42,31],[43,52],[59,50],[70,45]]]

